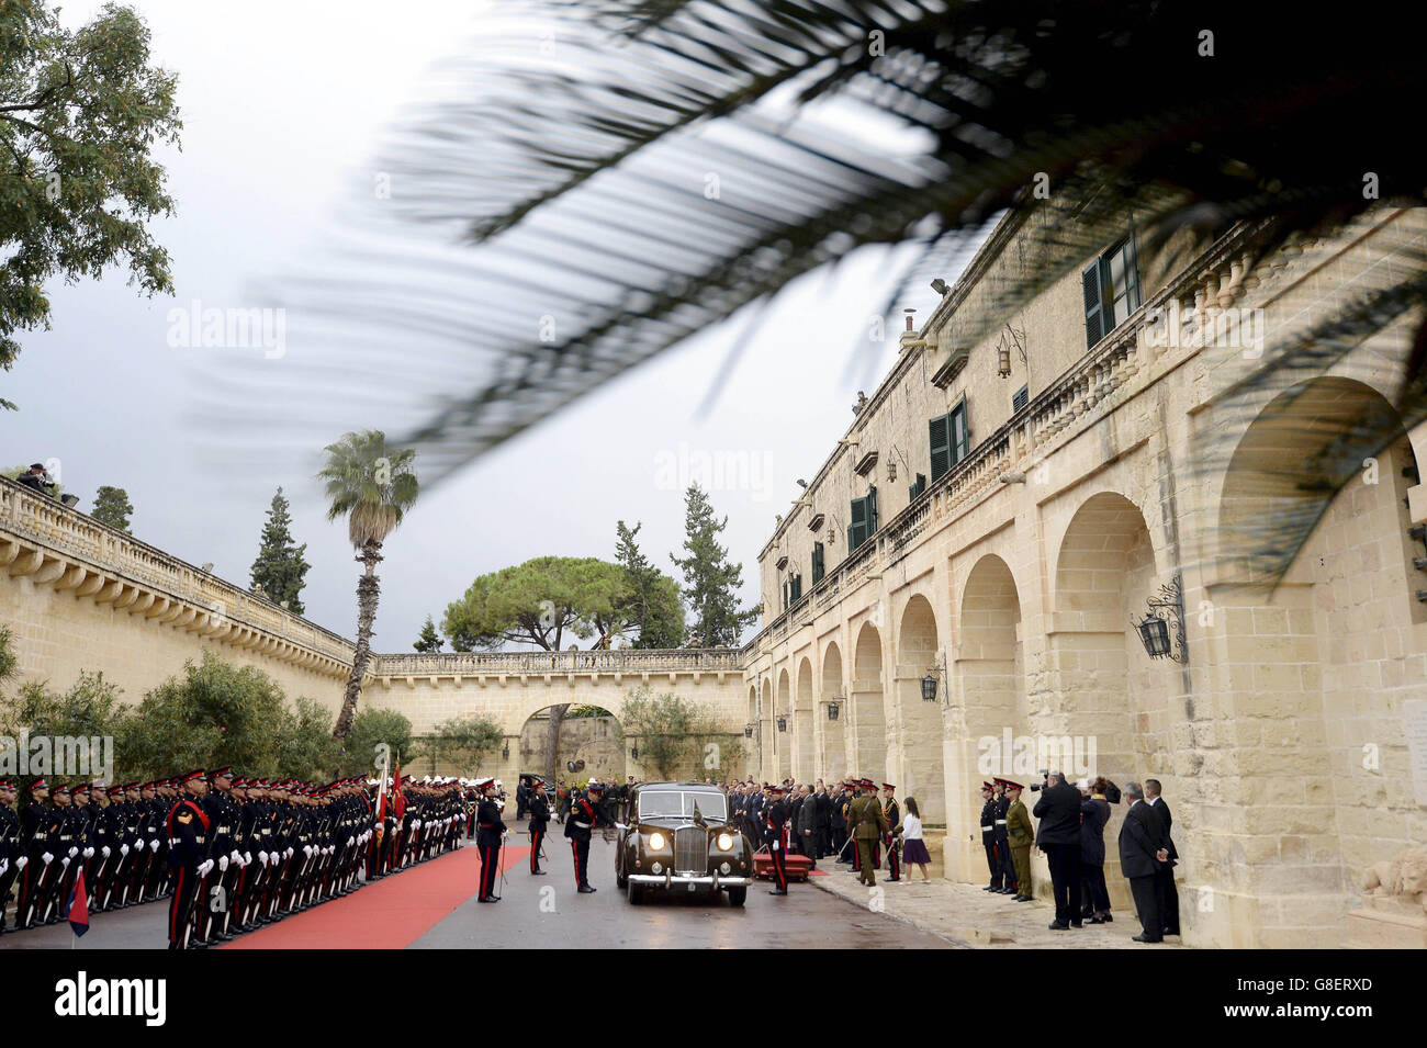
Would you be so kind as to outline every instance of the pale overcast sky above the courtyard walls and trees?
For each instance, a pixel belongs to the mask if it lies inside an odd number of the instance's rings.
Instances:
[[[64,19],[77,23],[100,6],[70,0]],[[261,305],[254,287],[315,257],[382,130],[481,30],[481,6],[457,0],[137,7],[156,60],[180,83],[183,150],[164,155],[178,214],[154,232],[173,255],[184,305]],[[756,558],[773,515],[786,512],[795,478],[811,479],[846,429],[856,391],[875,384],[868,375],[880,376],[895,359],[893,332],[876,359],[849,366],[855,346],[868,345],[868,319],[895,261],[870,250],[793,285],[705,416],[698,406],[742,315],[437,488],[387,543],[375,649],[411,650],[424,617],[440,623],[484,572],[542,555],[612,559],[618,519],[644,522],[645,552],[672,572],[669,552],[684,528],[679,483],[688,479],[678,466],[701,453],[742,463],[712,498],[743,563],[745,602],[756,602]],[[244,587],[264,512],[283,485],[313,565],[307,616],[351,636],[358,567],[345,525],[325,520],[313,463],[274,461],[254,482],[215,469],[198,451],[204,433],[191,408],[211,364],[203,355],[225,351],[171,348],[176,301],[144,299],[121,274],[54,287],[51,301],[53,329],[21,335],[24,352],[0,376],[0,395],[20,405],[0,413],[4,463],[60,459],[81,509],[93,506],[98,485],[127,489],[137,538],[195,565],[213,562]],[[935,304],[928,288],[920,315]],[[288,332],[290,356],[301,355],[300,338]]]

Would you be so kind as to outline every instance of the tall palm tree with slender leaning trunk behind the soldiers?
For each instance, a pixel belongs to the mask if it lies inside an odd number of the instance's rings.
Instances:
[[[347,536],[362,566],[357,582],[357,650],[342,710],[332,730],[332,739],[341,740],[352,730],[361,679],[371,659],[371,626],[381,593],[381,580],[375,573],[381,543],[417,500],[417,475],[411,469],[417,453],[410,448],[388,448],[387,436],[380,429],[345,433],[324,451],[327,466],[317,476],[327,482],[327,519],[347,518]]]

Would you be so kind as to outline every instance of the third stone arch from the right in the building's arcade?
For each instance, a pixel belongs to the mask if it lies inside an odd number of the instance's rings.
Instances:
[[[995,553],[982,556],[966,576],[958,609],[959,629],[952,683],[960,707],[959,737],[946,743],[948,865],[962,880],[986,871],[980,847],[980,784],[1010,776],[1005,739],[1030,733],[1026,667],[1020,636],[1020,596],[1009,565]]]

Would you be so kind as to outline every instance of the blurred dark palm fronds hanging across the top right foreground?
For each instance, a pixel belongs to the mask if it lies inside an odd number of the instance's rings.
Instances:
[[[291,282],[371,337],[334,339],[332,381],[391,399],[430,376],[405,441],[428,482],[869,245],[920,247],[890,312],[989,222],[1022,234],[986,255],[1015,251],[1017,278],[958,308],[975,344],[1126,225],[1183,264],[1232,227],[1266,257],[1427,187],[1427,143],[1403,130],[1427,97],[1421,6],[508,0],[484,29],[465,94],[411,113],[375,164],[404,240]],[[1427,252],[1400,261],[1247,381],[1411,315]],[[1408,428],[1427,418],[1418,346]]]

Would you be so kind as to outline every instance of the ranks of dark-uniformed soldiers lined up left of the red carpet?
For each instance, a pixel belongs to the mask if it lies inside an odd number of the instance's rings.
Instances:
[[[0,780],[0,933],[64,918],[81,881],[90,913],[168,898],[168,947],[224,942],[459,847],[472,833],[458,780],[381,791],[194,770],[148,783]],[[364,875],[364,877],[362,877]],[[14,927],[6,904],[17,890]]]

